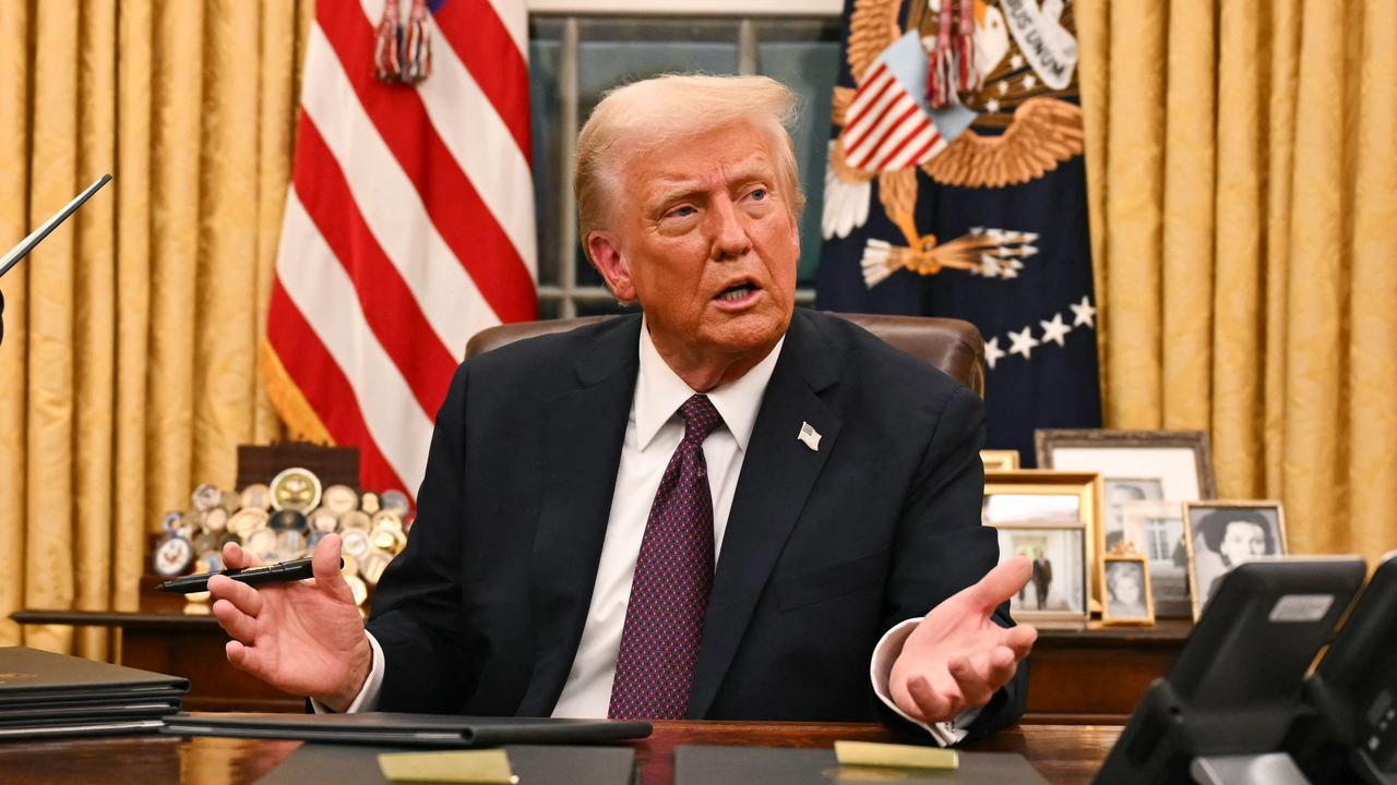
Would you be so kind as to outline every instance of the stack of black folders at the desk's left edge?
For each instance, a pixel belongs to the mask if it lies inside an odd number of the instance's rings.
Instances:
[[[27,647],[0,648],[0,739],[155,732],[189,680]]]

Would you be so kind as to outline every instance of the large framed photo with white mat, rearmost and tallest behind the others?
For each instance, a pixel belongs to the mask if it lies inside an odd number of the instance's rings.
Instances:
[[[1158,480],[1161,499],[1172,501],[1217,496],[1213,453],[1203,430],[1039,429],[1034,443],[1038,465],[1045,469],[1101,472],[1108,480]]]

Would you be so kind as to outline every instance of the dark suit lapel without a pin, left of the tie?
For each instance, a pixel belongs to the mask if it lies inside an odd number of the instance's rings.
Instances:
[[[553,710],[587,622],[636,388],[638,339],[640,317],[598,335],[574,363],[580,386],[545,408],[545,497],[529,566],[534,672],[518,708],[524,717]]]

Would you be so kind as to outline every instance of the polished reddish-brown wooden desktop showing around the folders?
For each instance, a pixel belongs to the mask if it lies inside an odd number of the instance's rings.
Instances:
[[[1120,728],[1025,725],[967,749],[1025,756],[1053,785],[1091,782]],[[679,744],[830,747],[835,739],[891,740],[879,725],[806,722],[657,722],[636,743],[641,785],[669,785]],[[254,782],[299,742],[179,740],[165,736],[0,743],[0,771],[11,782]]]

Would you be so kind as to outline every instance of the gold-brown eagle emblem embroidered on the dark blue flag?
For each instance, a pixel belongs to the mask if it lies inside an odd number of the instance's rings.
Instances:
[[[863,85],[880,57],[908,32],[918,35],[923,49],[935,46],[943,18],[940,3],[956,1],[912,0],[904,29],[898,21],[900,0],[855,0],[845,46],[855,85]],[[929,159],[900,169],[861,169],[849,163],[842,134],[830,142],[821,217],[824,237],[845,237],[868,222],[870,183],[877,180],[879,203],[905,242],[904,246],[894,246],[869,240],[863,254],[863,278],[869,286],[902,268],[922,275],[951,268],[1013,278],[1023,261],[1037,253],[1032,246],[1037,235],[1030,232],[981,229],[940,243],[935,235],[918,230],[918,169],[947,186],[1000,189],[1042,177],[1083,151],[1081,109],[1063,101],[1063,96],[1074,95],[1074,82],[1066,84],[1060,74],[1049,74],[1060,82],[1060,88],[1048,84],[1048,78],[1038,71],[1042,63],[1023,54],[1014,29],[1024,24],[1046,27],[1059,42],[1067,41],[1074,57],[1076,43],[1066,32],[1070,10],[1065,8],[1063,0],[1044,0],[1041,6],[1035,0],[996,3],[974,0],[978,88],[956,96],[961,106],[974,112],[970,127],[960,130]],[[1013,6],[1010,11],[1016,15],[1006,17],[1000,6]],[[845,127],[855,95],[856,88],[834,88],[833,120],[837,127]]]

